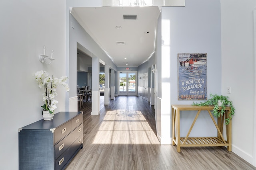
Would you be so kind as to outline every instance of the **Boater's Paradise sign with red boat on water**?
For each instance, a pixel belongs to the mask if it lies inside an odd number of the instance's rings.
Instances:
[[[207,100],[207,53],[178,53],[178,100]]]

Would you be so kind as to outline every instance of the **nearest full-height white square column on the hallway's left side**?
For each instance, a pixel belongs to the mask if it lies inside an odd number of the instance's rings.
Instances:
[[[100,60],[92,57],[92,115],[100,114]]]

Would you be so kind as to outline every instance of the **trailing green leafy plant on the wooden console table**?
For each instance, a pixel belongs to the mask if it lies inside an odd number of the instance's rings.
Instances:
[[[208,99],[206,102],[200,102],[200,104],[193,102],[192,105],[194,106],[209,106],[213,105],[214,109],[212,111],[213,115],[216,117],[220,117],[220,115],[223,116],[223,113],[225,113],[226,106],[230,107],[230,113],[228,115],[228,118],[225,119],[225,124],[228,125],[230,120],[232,119],[232,116],[234,116],[235,108],[232,105],[232,102],[228,100],[228,96],[222,96],[217,94],[210,94],[210,99]],[[221,106],[218,105],[218,101],[221,101]]]

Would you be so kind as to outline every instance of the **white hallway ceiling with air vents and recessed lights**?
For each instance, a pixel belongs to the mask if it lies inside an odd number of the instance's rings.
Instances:
[[[139,66],[155,51],[158,7],[74,7],[71,14],[117,66]]]

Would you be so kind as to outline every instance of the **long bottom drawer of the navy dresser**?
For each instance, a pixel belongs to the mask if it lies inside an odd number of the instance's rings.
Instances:
[[[61,170],[72,158],[73,153],[76,152],[82,145],[83,135],[80,135],[74,143],[68,147],[68,149],[60,155],[58,159],[55,161],[55,170]]]

